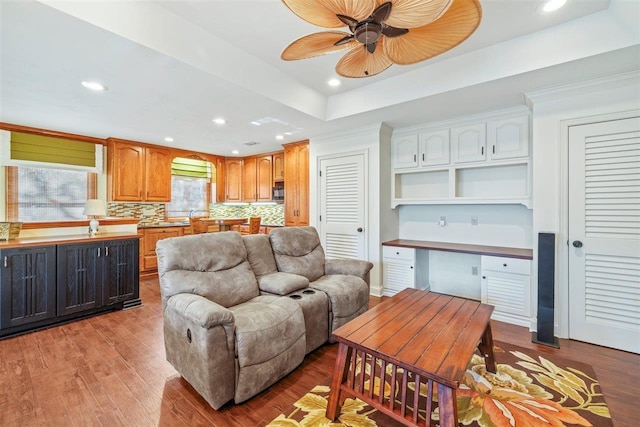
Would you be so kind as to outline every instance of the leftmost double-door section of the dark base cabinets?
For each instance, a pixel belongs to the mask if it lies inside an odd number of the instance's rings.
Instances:
[[[0,250],[0,329],[56,316],[56,246]]]

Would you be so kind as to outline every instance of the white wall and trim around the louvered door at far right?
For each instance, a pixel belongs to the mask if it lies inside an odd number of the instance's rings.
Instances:
[[[556,335],[569,334],[568,124],[607,119],[640,109],[640,73],[632,72],[527,94],[533,111],[533,277],[537,289],[537,235],[556,233]],[[624,114],[623,114],[624,115]],[[533,295],[534,309],[537,294]]]

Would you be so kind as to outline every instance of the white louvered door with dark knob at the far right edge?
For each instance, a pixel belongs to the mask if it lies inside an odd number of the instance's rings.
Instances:
[[[569,335],[640,353],[640,118],[569,129]]]

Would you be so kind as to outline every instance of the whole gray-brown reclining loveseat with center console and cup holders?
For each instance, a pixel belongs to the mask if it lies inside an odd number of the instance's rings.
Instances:
[[[215,409],[245,401],[369,304],[370,262],[325,259],[313,227],[160,240],[167,360]]]

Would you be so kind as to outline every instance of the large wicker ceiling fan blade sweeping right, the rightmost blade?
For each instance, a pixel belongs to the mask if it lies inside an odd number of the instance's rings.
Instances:
[[[400,65],[432,58],[466,40],[480,25],[481,17],[478,0],[455,0],[437,21],[412,28],[400,37],[385,38],[385,53]]]

